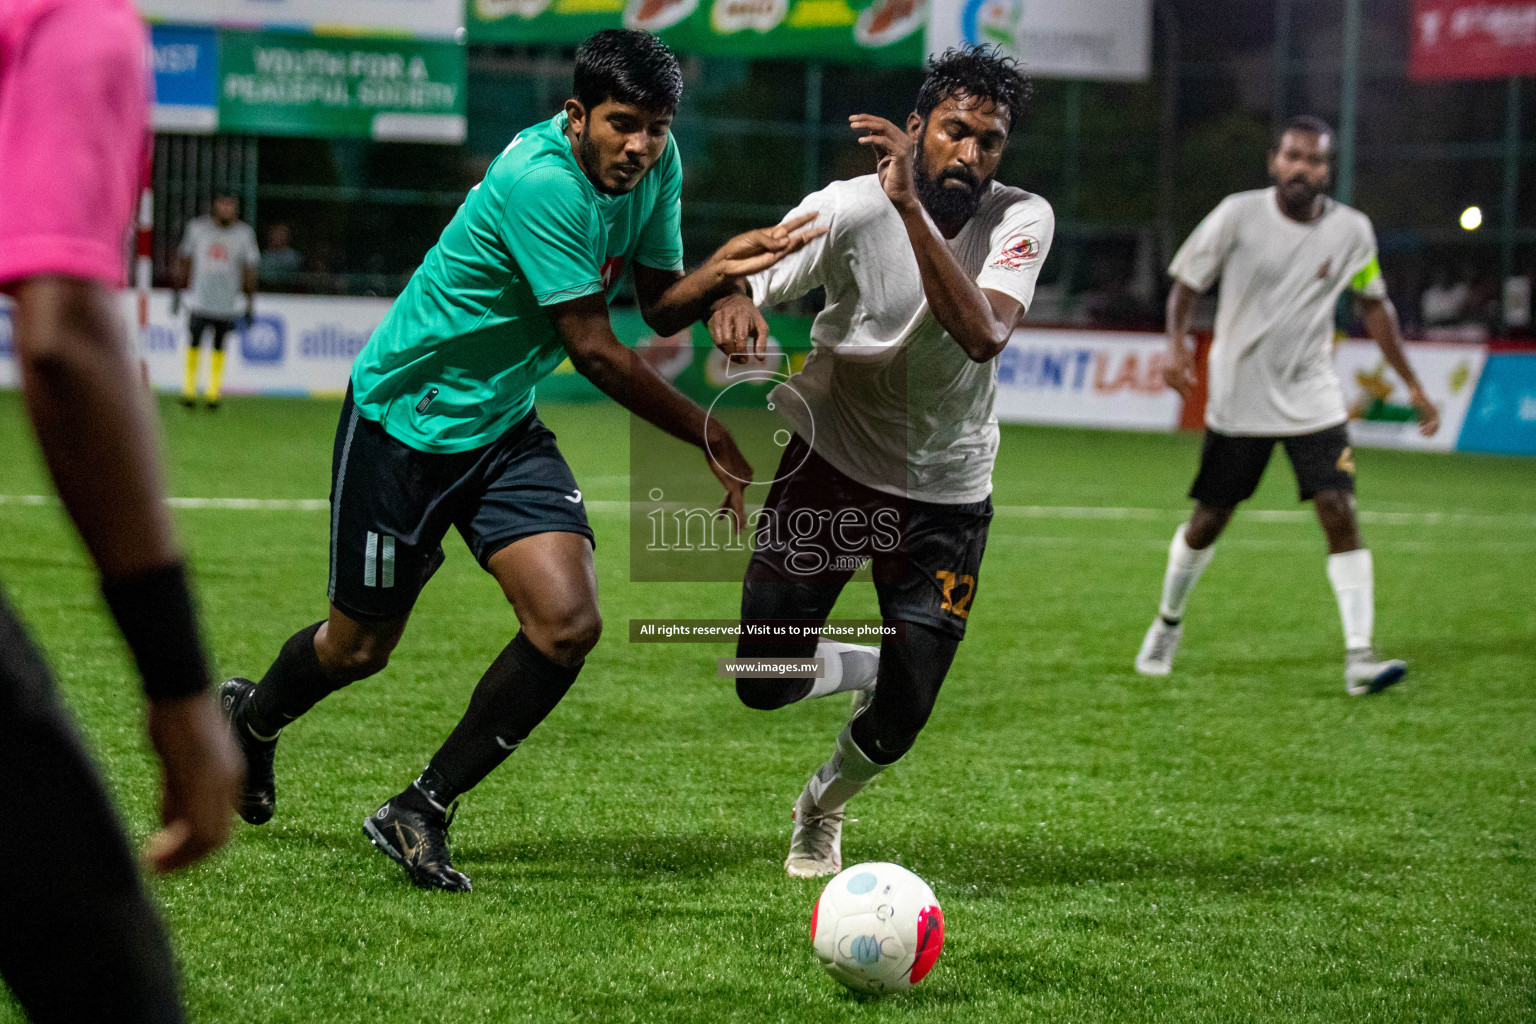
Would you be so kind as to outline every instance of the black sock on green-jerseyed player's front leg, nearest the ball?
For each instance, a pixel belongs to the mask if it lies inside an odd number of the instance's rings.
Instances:
[[[481,676],[468,711],[422,772],[432,800],[449,806],[507,760],[554,711],[578,672],[581,666],[551,662],[527,634],[518,633]]]

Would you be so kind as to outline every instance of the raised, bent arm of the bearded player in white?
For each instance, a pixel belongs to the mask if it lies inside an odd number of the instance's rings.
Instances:
[[[938,226],[917,198],[912,183],[912,140],[908,132],[872,114],[856,114],[848,118],[848,124],[860,134],[862,146],[876,150],[880,187],[902,215],[923,278],[923,296],[934,319],[974,361],[997,358],[1023,319],[1023,304],[1001,292],[977,287],[949,252]]]

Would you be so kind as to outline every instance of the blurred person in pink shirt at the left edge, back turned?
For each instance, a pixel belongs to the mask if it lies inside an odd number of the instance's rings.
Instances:
[[[126,0],[0,0],[0,292],[58,496],[134,652],[161,765],[146,860],[229,835],[241,775],[164,505],[115,289],[144,180],[146,40]],[[0,975],[34,1021],[181,1021],[177,970],[127,837],[40,651],[0,599]]]

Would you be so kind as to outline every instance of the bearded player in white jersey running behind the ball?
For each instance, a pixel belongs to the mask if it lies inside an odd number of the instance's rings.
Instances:
[[[751,708],[862,691],[794,804],[791,875],[840,870],[843,806],[911,749],[965,636],[992,517],[994,358],[1034,298],[1055,227],[1049,203],[992,180],[1029,95],[1012,60],[969,48],[929,64],[905,130],[852,117],[879,173],[806,197],[788,220],[814,212],[829,233],[753,276],[751,299],[710,321],[722,350],[760,356],[757,306],[826,289],[814,352],[770,395],[794,436],[759,519],[742,619],[825,622],[872,560],[880,613],[903,631],[879,651],[737,646],[740,659],[823,659],[819,679],[737,677]]]

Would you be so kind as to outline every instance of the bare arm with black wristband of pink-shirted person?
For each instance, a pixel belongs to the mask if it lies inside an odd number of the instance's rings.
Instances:
[[[15,292],[15,350],[43,457],[101,571],[134,651],[163,768],[163,832],[147,855],[175,870],[229,837],[241,765],[207,692],[160,457],[123,318],[100,284],[31,278]]]

